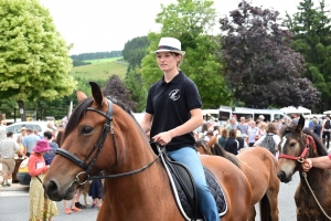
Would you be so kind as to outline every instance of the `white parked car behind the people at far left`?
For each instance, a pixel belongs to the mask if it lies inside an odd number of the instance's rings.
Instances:
[[[26,127],[33,130],[38,130],[40,136],[44,136],[44,131],[47,130],[47,122],[18,122],[9,125],[7,131],[12,131],[14,137],[21,134],[21,128]]]

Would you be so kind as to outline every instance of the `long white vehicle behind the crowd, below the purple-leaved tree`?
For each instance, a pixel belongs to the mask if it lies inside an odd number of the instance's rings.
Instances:
[[[218,108],[220,122],[225,122],[229,119],[233,115],[237,116],[237,120],[239,120],[241,117],[252,117],[254,120],[256,120],[259,117],[259,115],[264,115],[265,122],[273,122],[274,119],[281,119],[284,117],[290,118],[280,109],[255,109],[248,107],[235,107],[234,109],[232,109],[232,107],[228,106],[221,106]]]

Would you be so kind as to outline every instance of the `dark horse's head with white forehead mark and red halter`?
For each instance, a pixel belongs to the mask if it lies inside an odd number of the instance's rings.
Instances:
[[[305,118],[280,130],[277,173],[281,182],[289,182],[292,175],[301,170],[303,158],[327,155],[319,137],[305,128]]]

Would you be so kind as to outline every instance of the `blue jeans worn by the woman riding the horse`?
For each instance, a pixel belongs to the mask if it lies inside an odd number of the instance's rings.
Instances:
[[[167,152],[175,161],[184,164],[191,170],[196,187],[199,208],[206,220],[218,221],[216,202],[205,181],[203,167],[196,150],[191,147],[183,147],[177,150],[167,150]]]

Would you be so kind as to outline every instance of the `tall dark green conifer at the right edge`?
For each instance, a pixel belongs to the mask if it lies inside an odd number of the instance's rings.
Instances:
[[[295,33],[291,48],[303,55],[306,72],[314,87],[321,92],[321,105],[316,110],[331,108],[331,14],[325,10],[324,0],[318,8],[312,0],[303,0],[292,18],[287,14],[285,22]]]

